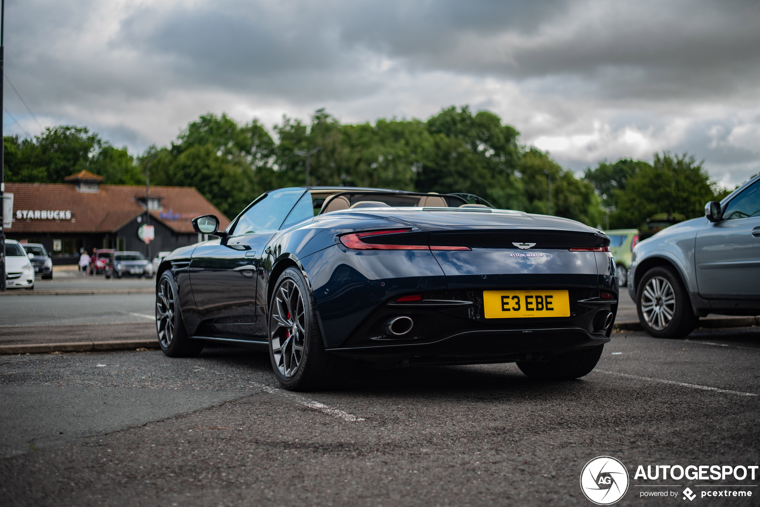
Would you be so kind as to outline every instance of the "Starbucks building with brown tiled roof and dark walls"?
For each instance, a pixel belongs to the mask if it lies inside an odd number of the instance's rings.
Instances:
[[[202,241],[191,220],[216,215],[226,227],[230,220],[195,187],[145,187],[100,184],[103,177],[81,171],[64,184],[6,183],[13,194],[13,222],[5,229],[10,239],[43,244],[53,264],[76,264],[82,249],[137,250],[154,257]],[[143,241],[147,214],[154,239]]]

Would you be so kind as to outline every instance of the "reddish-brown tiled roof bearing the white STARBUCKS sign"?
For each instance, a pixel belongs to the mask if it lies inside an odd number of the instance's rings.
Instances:
[[[14,194],[11,233],[116,232],[145,213],[138,202],[145,198],[141,186],[100,185],[97,192],[79,192],[74,184],[6,183],[5,191]],[[150,187],[150,197],[160,197],[162,206],[150,211],[151,221],[176,232],[193,232],[190,220],[201,215],[218,216],[220,228],[230,223],[195,187]],[[19,209],[70,210],[71,219],[19,219]]]

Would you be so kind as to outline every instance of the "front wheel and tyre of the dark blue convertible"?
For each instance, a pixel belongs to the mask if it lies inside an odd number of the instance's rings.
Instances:
[[[179,311],[179,291],[172,272],[166,271],[156,286],[156,332],[161,350],[169,357],[195,357],[203,342],[188,336]]]

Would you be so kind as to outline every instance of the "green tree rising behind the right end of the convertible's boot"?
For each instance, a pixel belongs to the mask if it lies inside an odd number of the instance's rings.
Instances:
[[[600,224],[603,212],[599,197],[588,181],[565,171],[549,155],[535,148],[523,153],[520,160],[521,182],[528,213],[549,213],[549,178],[552,176],[552,212],[556,216],[577,220],[586,225]]]

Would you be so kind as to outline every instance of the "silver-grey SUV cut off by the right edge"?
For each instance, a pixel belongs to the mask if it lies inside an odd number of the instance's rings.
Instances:
[[[629,294],[657,338],[682,338],[708,313],[760,315],[760,175],[705,217],[673,225],[633,249]]]

